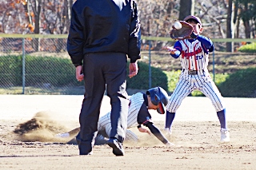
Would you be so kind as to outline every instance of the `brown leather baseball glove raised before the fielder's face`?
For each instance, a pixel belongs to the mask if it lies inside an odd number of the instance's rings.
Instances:
[[[190,38],[190,35],[193,33],[193,26],[191,26],[187,22],[182,22],[182,21],[179,21],[179,22],[182,24],[182,28],[177,30],[173,26],[173,29],[170,30],[170,38],[178,39],[178,40]]]

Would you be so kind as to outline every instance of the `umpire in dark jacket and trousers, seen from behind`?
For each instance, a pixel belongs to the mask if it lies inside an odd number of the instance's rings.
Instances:
[[[98,117],[106,89],[111,105],[108,144],[123,156],[128,114],[126,63],[129,77],[138,73],[141,33],[134,0],[77,0],[72,6],[67,51],[76,67],[76,78],[85,81],[86,93],[76,137],[79,154],[90,155],[98,132]],[[127,56],[126,56],[127,55]]]

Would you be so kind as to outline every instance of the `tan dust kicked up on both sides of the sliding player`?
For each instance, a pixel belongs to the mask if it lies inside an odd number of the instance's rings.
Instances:
[[[55,121],[50,112],[35,113],[29,121],[23,122],[14,129],[14,140],[22,142],[56,142],[64,144],[77,144],[74,137],[78,134],[76,128],[67,128],[62,123]],[[124,140],[126,146],[162,146],[162,142],[153,134],[139,132],[137,127],[129,128],[138,136],[138,142],[133,140]],[[74,131],[74,132],[73,132]],[[69,132],[70,137],[56,137],[60,132]],[[167,137],[167,136],[166,136]]]

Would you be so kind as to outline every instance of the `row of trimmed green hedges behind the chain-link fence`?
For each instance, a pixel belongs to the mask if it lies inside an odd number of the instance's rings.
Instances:
[[[0,87],[9,86],[13,90],[22,85],[21,63],[22,56],[0,57]],[[34,65],[37,66],[34,67]],[[131,79],[127,77],[127,89],[141,91],[149,88],[149,65],[139,61],[138,68],[139,72],[136,77]],[[127,71],[129,71],[128,67]],[[26,86],[36,87],[32,93],[83,94],[83,82],[76,81],[74,73],[74,65],[69,58],[26,56]],[[180,73],[180,70],[163,71],[151,66],[151,87],[161,86],[171,94],[178,83]],[[254,77],[256,77],[256,68],[249,68],[240,69],[230,74],[217,73],[214,81],[223,97],[256,97],[256,79]],[[79,89],[79,87],[81,88]],[[30,90],[30,88],[28,89]],[[191,96],[204,95],[194,91]]]

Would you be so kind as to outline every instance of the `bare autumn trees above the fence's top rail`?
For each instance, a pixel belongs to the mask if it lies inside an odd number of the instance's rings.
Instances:
[[[75,0],[0,0],[0,33],[68,34]],[[142,36],[169,37],[175,20],[194,14],[202,19],[202,34],[210,38],[255,38],[255,0],[137,0]],[[182,13],[180,12],[182,11]],[[145,42],[146,43],[146,42]],[[144,43],[144,45],[145,45]],[[147,43],[146,43],[147,44]],[[154,49],[166,42],[154,42]],[[231,51],[239,43],[232,45]],[[34,49],[40,46],[35,44]],[[229,48],[226,48],[229,50]]]

